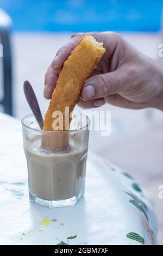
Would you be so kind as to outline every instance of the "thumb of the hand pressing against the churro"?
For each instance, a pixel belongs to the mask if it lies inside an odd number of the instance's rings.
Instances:
[[[83,100],[97,99],[109,94],[124,93],[127,90],[126,72],[116,70],[88,78],[82,88]]]

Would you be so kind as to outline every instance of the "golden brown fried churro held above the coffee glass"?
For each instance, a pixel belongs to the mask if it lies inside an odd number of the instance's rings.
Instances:
[[[58,77],[52,100],[43,122],[43,130],[53,131],[54,111],[61,111],[65,118],[65,107],[69,107],[70,113],[80,95],[80,90],[91,72],[96,68],[98,60],[103,56],[105,49],[102,44],[96,42],[92,36],[86,35],[64,63]],[[68,120],[70,122],[70,119]],[[64,130],[67,130],[64,123]]]

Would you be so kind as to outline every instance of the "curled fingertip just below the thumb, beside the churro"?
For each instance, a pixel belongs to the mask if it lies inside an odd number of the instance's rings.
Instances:
[[[94,107],[101,107],[105,104],[104,98],[97,99],[97,100],[87,100],[84,101],[79,98],[78,106],[82,108],[94,108]]]

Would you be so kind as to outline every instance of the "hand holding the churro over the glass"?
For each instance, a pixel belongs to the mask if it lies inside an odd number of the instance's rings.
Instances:
[[[92,108],[108,102],[125,108],[156,107],[163,110],[161,63],[138,52],[117,33],[86,34],[103,42],[106,51],[96,70],[85,81],[78,105]],[[47,99],[52,96],[62,65],[84,35],[74,34],[57,52],[45,76],[44,95]]]

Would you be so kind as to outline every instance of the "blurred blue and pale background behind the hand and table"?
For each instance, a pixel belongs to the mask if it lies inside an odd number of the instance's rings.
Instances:
[[[18,119],[30,112],[23,94],[25,80],[32,84],[41,109],[47,109],[45,72],[72,33],[120,32],[139,51],[159,59],[162,7],[161,0],[0,0],[1,111]],[[163,113],[110,105],[99,110],[111,111],[111,136],[101,137],[99,131],[92,131],[90,150],[126,169],[145,188],[158,217],[159,242],[163,244],[163,199],[158,197],[158,187],[163,185]]]

